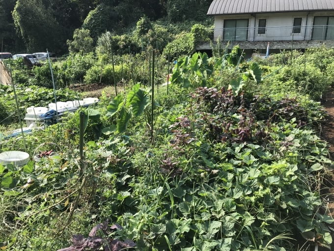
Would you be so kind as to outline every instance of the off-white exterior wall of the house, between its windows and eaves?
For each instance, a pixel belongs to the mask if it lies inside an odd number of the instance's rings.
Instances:
[[[315,16],[334,16],[334,11],[317,12],[283,12],[283,13],[260,13],[243,15],[220,15],[215,16],[214,39],[223,37],[224,20],[228,19],[249,19],[248,41],[268,41],[268,40],[291,40],[292,26],[295,18],[302,18],[302,29],[300,33],[294,33],[294,40],[310,40],[312,29],[303,26],[312,26]],[[307,18],[307,24],[306,24]],[[258,24],[260,19],[266,19],[266,33],[258,34]]]

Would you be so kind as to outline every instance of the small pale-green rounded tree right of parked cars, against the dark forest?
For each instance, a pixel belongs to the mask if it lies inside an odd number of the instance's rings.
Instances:
[[[89,53],[94,49],[93,38],[90,37],[89,30],[76,29],[74,31],[73,40],[67,40],[69,52]]]

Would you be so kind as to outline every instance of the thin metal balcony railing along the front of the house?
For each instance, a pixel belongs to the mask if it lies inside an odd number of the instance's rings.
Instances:
[[[214,29],[214,40],[273,41],[273,40],[329,40],[334,39],[334,25],[285,26]]]

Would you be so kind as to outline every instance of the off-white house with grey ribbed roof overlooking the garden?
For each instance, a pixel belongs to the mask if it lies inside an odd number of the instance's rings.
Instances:
[[[265,50],[268,42],[271,49],[334,47],[334,0],[213,0],[208,15],[215,16],[215,41],[246,50]]]

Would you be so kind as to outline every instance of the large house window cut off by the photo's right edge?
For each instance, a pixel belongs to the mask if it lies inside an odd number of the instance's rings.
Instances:
[[[334,39],[334,16],[314,17],[312,39]]]

